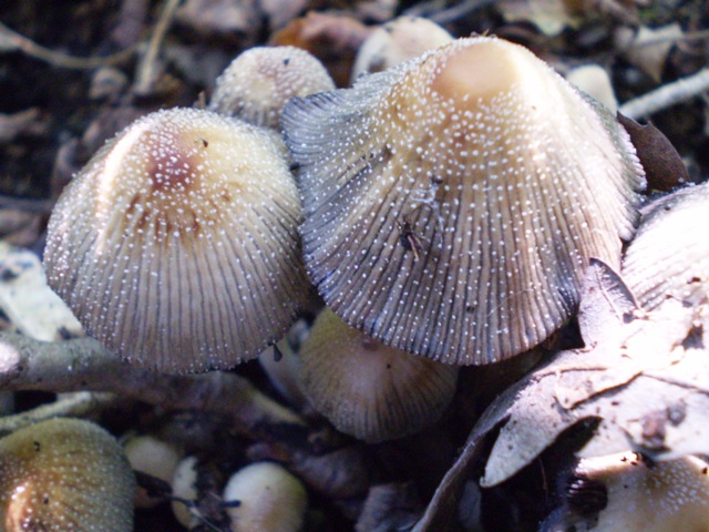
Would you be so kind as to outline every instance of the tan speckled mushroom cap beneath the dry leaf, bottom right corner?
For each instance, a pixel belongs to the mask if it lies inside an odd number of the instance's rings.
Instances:
[[[608,504],[599,512],[593,530],[709,530],[708,467],[697,457],[648,467],[631,452],[582,460],[577,473],[600,480],[607,489]]]

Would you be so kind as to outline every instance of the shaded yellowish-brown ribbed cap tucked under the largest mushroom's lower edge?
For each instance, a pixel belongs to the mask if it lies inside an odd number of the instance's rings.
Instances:
[[[369,442],[433,424],[455,393],[459,368],[383,346],[322,310],[300,348],[304,391],[341,432]]]

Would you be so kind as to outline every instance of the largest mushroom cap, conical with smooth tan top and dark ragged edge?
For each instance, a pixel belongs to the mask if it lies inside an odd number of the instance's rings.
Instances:
[[[645,185],[614,116],[495,38],[294,99],[282,125],[326,304],[445,362],[508,358],[563,325],[589,257],[618,267]]]

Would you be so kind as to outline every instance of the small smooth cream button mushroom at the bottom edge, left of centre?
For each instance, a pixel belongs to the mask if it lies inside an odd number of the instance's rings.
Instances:
[[[224,488],[223,499],[233,532],[298,532],[308,508],[302,483],[273,462],[238,470]]]

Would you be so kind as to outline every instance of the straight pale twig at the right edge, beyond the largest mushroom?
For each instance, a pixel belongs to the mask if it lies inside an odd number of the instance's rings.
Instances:
[[[686,102],[708,90],[709,68],[703,68],[692,75],[681,78],[624,103],[618,111],[625,116],[637,120]]]

